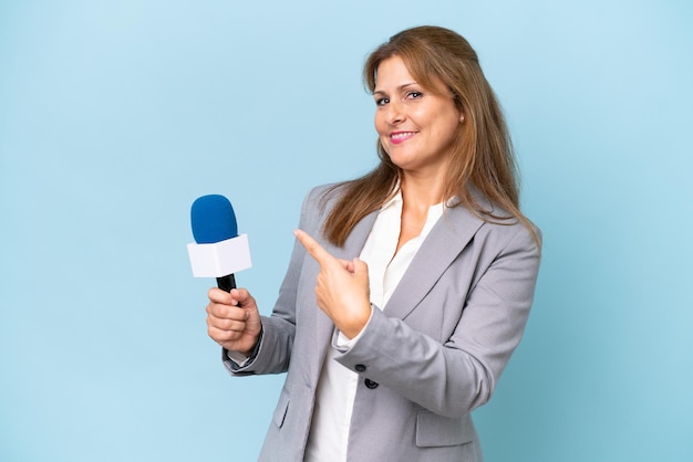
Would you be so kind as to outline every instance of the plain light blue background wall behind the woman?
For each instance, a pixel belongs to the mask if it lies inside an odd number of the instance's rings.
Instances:
[[[477,49],[545,233],[488,462],[693,460],[685,0],[0,3],[0,460],[250,461],[282,376],[231,379],[185,244],[223,193],[271,309],[300,201],[375,161],[360,72]]]

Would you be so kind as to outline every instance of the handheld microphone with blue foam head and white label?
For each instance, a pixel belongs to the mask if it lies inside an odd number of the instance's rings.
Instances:
[[[234,273],[252,263],[248,235],[238,235],[231,202],[219,195],[197,198],[190,208],[190,222],[195,242],[187,246],[193,276],[216,277],[217,286],[226,292],[236,288]]]

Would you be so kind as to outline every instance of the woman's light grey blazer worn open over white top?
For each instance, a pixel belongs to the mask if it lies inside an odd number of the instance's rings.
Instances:
[[[321,237],[324,187],[303,201],[299,228],[340,259],[359,256],[377,212],[343,248]],[[488,209],[488,201],[480,201]],[[537,231],[538,232],[538,231]],[[534,297],[539,248],[523,224],[447,208],[383,309],[337,358],[360,375],[348,460],[482,461],[473,409],[487,402],[518,345]],[[316,303],[317,262],[296,243],[254,358],[232,375],[287,374],[260,461],[302,461],[320,370],[334,326]],[[226,353],[226,351],[225,351]]]

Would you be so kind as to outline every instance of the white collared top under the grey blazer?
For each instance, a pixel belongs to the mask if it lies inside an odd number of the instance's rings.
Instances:
[[[359,256],[369,265],[373,306],[380,309],[385,306],[424,239],[442,214],[443,203],[432,206],[421,234],[406,242],[395,254],[402,222],[401,193],[381,208]],[[368,324],[361,334],[366,328]],[[361,334],[351,340],[340,334],[338,346],[342,350],[352,347]],[[349,428],[359,375],[335,361],[337,355],[338,350],[334,347],[329,349],[320,374],[304,462],[346,461]]]

